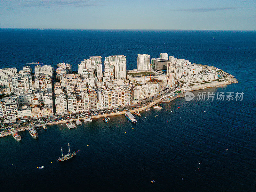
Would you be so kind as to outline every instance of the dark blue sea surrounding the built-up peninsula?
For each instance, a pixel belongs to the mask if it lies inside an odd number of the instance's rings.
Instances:
[[[20,132],[21,142],[0,138],[0,190],[256,191],[255,31],[0,29],[0,68],[18,71],[37,61],[77,69],[83,59],[108,55],[125,55],[133,69],[137,54],[160,52],[216,66],[239,81],[195,95],[244,92],[243,100],[178,98],[141,112],[136,125],[113,116],[74,130],[39,128],[38,139],[28,131]],[[68,143],[81,151],[56,162]]]

